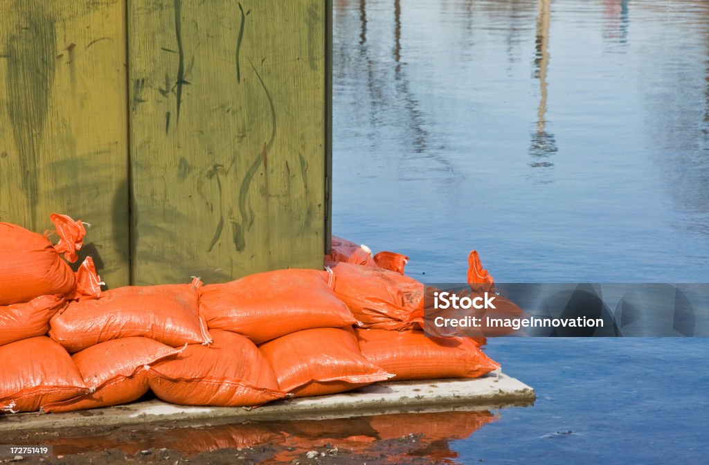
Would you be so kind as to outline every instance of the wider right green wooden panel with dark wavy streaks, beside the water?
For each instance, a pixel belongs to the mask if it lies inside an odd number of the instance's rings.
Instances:
[[[326,11],[130,0],[135,284],[322,266]]]

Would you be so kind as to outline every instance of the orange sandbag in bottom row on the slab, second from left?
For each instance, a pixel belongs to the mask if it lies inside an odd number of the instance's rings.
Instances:
[[[78,398],[44,406],[45,412],[70,412],[133,402],[147,393],[147,369],[179,354],[147,337],[123,337],[77,352],[72,360],[91,392]]]

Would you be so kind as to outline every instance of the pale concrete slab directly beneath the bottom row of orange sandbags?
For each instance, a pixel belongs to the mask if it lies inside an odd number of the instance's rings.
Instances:
[[[191,407],[148,400],[72,413],[0,415],[0,432],[177,421],[190,425],[215,425],[256,420],[322,420],[459,408],[491,410],[532,405],[535,398],[530,386],[500,374],[478,379],[378,383],[348,393],[279,400],[251,409]]]

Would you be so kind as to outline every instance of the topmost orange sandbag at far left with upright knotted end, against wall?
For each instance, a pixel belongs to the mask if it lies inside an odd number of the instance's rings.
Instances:
[[[77,259],[86,231],[81,221],[50,215],[60,237],[52,245],[45,235],[11,223],[0,223],[0,306],[29,302],[38,296],[65,294],[74,287],[74,273],[62,260]]]

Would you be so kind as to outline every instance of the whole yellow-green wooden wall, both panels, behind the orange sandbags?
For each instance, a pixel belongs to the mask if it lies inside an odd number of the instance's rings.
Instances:
[[[111,287],[321,267],[330,9],[0,0],[0,220],[92,223]]]

